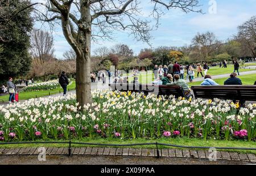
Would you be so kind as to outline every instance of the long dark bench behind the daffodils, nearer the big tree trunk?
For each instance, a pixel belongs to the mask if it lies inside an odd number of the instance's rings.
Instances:
[[[155,93],[158,96],[170,96],[185,97],[184,91],[181,87],[173,85],[156,85],[156,84],[109,84],[109,87],[113,91],[121,92],[143,92],[144,95],[148,93]]]

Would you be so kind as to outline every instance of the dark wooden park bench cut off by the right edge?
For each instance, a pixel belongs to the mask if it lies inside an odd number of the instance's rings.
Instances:
[[[256,85],[215,85],[192,86],[195,98],[240,101],[241,106],[245,101],[256,101]]]

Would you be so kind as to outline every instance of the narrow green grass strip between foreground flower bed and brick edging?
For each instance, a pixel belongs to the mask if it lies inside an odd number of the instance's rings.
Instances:
[[[40,141],[40,140],[38,140]],[[52,141],[52,140],[49,140]],[[67,141],[67,140],[58,140]],[[72,140],[73,142],[84,142],[84,143],[100,143],[100,144],[134,144],[134,143],[166,143],[184,146],[200,146],[200,147],[245,147],[245,148],[255,148],[255,141],[226,141],[226,140],[203,140],[194,138],[161,138],[161,139],[89,139],[85,138],[82,140]],[[1,143],[0,143],[1,144]],[[72,147],[85,147],[85,146],[95,146],[96,145],[79,145],[72,144]],[[18,148],[18,147],[68,147],[68,144],[5,144],[0,145],[0,148]],[[98,147],[98,146],[97,146]],[[129,146],[131,148],[156,148],[156,145],[136,145]],[[119,147],[120,148],[120,147]],[[158,148],[174,148],[164,145],[158,145]],[[227,151],[227,150],[226,150]],[[228,150],[228,151],[238,151],[238,150]],[[246,151],[242,150],[243,153],[256,153],[256,151]]]

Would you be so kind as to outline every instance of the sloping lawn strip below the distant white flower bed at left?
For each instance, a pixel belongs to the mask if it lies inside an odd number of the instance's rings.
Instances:
[[[68,85],[67,89],[69,90],[73,90],[76,88],[76,82],[75,80],[72,80],[72,84]],[[60,93],[63,92],[63,88],[59,87],[56,89],[52,89],[52,90],[46,90],[46,91],[28,91],[28,92],[19,92],[19,100],[27,100],[30,98],[35,98],[35,97],[42,97],[42,96],[47,96],[55,93]],[[9,101],[9,94],[5,95],[5,96],[0,96],[0,100],[3,101]]]

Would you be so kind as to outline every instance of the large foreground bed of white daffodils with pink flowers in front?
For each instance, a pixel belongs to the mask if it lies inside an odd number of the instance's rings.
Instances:
[[[94,91],[81,106],[75,95],[30,99],[0,108],[0,140],[189,138],[255,140],[254,105]],[[77,108],[79,107],[79,108]]]

